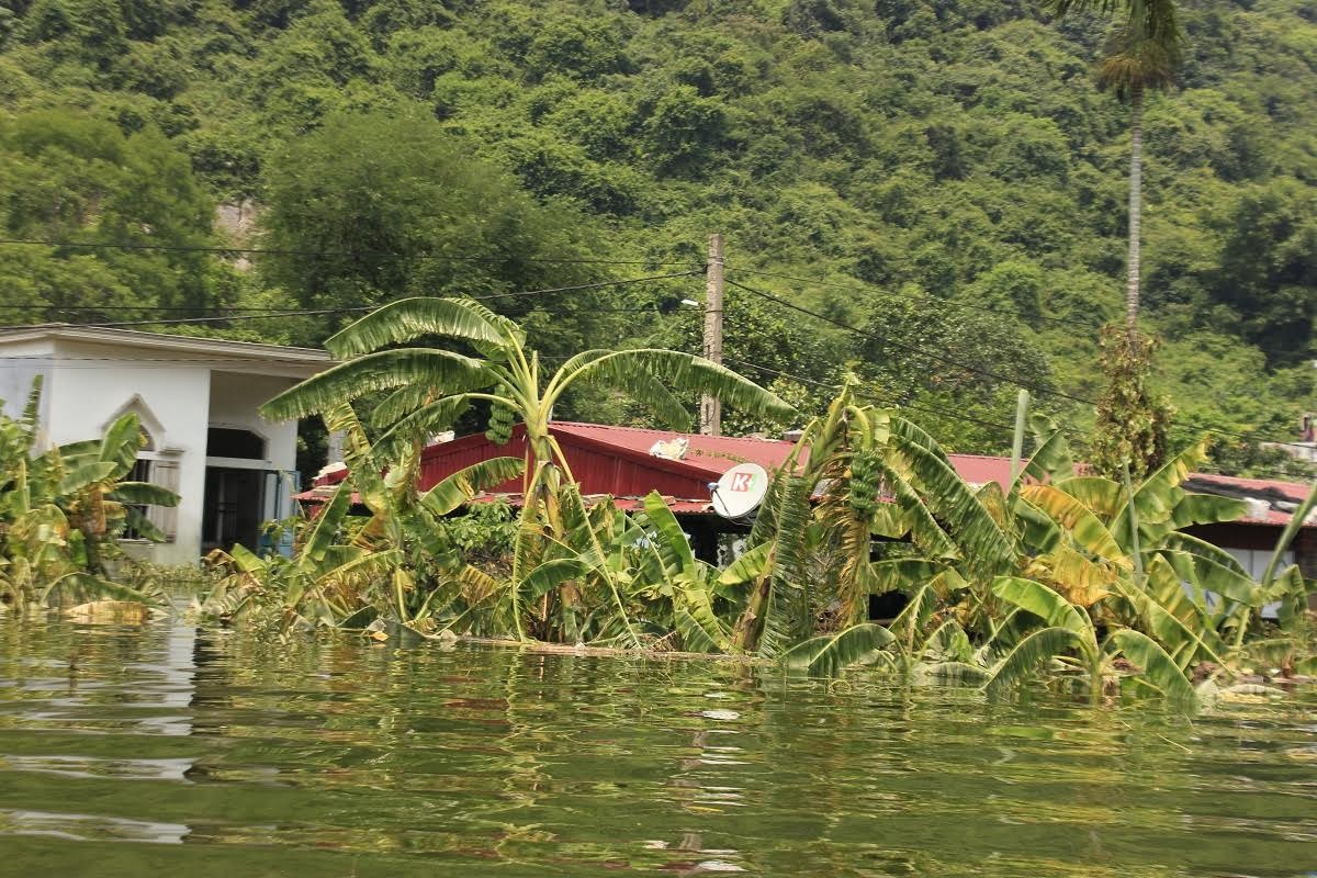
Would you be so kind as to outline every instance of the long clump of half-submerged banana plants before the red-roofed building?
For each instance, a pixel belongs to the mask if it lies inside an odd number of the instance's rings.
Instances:
[[[377,350],[421,337],[449,346]],[[1122,483],[1076,466],[1065,433],[1035,416],[1035,450],[1011,484],[975,487],[928,433],[847,384],[776,474],[745,552],[718,570],[694,557],[658,495],[635,513],[587,504],[547,412],[587,379],[626,382],[673,417],[673,390],[781,412],[772,394],[657,350],[586,351],[541,375],[516,324],[461,299],[389,305],[331,348],[350,358],[266,412],[321,412],[348,436],[348,475],[304,524],[294,558],[217,554],[225,575],[204,612],[273,611],[286,627],[381,638],[446,632],[739,654],[814,674],[869,663],[989,691],[1051,670],[1094,698],[1130,688],[1192,702],[1246,679],[1258,644],[1284,675],[1317,670],[1313,583],[1279,563],[1296,528],[1260,582],[1184,530],[1245,511],[1183,490],[1206,441]],[[478,399],[511,415],[491,423],[495,438],[512,419],[525,424],[525,458],[485,461],[417,492],[424,437]],[[354,403],[370,409],[369,429]],[[473,563],[448,516],[518,475],[506,562]],[[358,503],[367,515],[353,513]],[[869,621],[871,596],[889,592],[903,608]],[[1276,625],[1262,624],[1266,604],[1279,607]]]

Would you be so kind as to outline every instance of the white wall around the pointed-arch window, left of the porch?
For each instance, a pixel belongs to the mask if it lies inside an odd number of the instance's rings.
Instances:
[[[58,344],[58,353],[47,394],[50,440],[63,445],[96,438],[125,405],[141,398],[163,433],[153,436],[157,453],[178,461],[179,495],[176,538],[146,546],[142,554],[157,563],[196,563],[202,554],[209,367],[146,362],[132,350],[67,341]]]

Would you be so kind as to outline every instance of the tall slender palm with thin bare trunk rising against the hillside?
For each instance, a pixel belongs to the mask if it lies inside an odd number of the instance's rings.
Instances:
[[[1139,315],[1139,229],[1143,213],[1143,93],[1171,84],[1184,33],[1173,0],[1046,0],[1056,16],[1096,12],[1118,16],[1098,67],[1098,84],[1130,100],[1130,213],[1125,282],[1125,329],[1137,346]]]

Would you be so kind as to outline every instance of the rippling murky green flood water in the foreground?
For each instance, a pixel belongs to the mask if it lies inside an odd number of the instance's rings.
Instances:
[[[1310,875],[1317,699],[0,619],[0,875]]]

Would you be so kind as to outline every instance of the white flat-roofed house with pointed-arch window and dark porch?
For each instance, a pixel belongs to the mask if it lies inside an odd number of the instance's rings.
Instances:
[[[176,508],[149,511],[169,541],[133,549],[158,563],[195,563],[234,542],[257,549],[262,523],[292,512],[296,423],[257,408],[329,365],[307,348],[62,324],[0,330],[0,399],[17,415],[41,375],[45,445],[138,415],[146,444],[133,478],[179,495]]]

